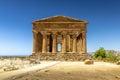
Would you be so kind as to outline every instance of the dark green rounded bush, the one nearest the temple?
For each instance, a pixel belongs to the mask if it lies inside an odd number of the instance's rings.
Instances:
[[[101,47],[97,51],[95,51],[93,56],[94,58],[98,58],[98,59],[106,58],[106,50],[103,47]]]

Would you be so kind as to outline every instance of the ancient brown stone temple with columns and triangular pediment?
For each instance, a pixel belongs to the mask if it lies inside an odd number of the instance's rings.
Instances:
[[[87,55],[87,22],[66,16],[33,21],[33,52],[41,59],[77,59]]]

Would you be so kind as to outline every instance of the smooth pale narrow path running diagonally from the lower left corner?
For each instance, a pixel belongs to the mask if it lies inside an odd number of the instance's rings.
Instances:
[[[13,80],[13,79],[9,79],[9,77],[11,78],[11,77],[16,77],[17,75],[24,75],[24,74],[26,74],[28,72],[40,70],[40,69],[46,68],[48,66],[55,65],[57,63],[58,63],[57,61],[46,62],[46,63],[43,63],[43,64],[38,64],[36,66],[23,68],[23,69],[20,69],[20,70],[0,73],[0,80]]]

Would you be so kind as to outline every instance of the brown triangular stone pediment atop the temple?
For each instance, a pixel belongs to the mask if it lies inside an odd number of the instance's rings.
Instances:
[[[87,21],[78,20],[67,16],[53,16],[41,20],[36,20],[34,22],[86,22],[87,23]]]

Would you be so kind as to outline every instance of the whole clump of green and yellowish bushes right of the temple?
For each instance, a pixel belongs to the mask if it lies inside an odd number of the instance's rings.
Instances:
[[[120,54],[116,54],[114,50],[105,50],[103,47],[99,48],[93,53],[93,58],[97,60],[117,63],[120,65]]]

